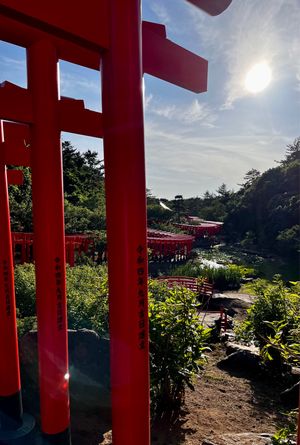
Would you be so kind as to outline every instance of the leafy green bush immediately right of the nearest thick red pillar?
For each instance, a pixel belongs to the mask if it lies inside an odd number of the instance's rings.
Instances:
[[[179,407],[185,387],[193,389],[210,329],[200,324],[193,292],[155,282],[149,289],[151,400],[157,413]]]

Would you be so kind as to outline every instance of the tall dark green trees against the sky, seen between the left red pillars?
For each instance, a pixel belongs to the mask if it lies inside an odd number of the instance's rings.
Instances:
[[[105,229],[103,163],[97,153],[80,153],[70,142],[62,143],[66,233]],[[31,172],[24,184],[9,187],[11,226],[16,232],[32,231]],[[46,198],[45,198],[46,199]]]

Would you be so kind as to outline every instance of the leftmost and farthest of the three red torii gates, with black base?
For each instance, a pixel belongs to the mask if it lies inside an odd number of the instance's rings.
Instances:
[[[7,439],[7,432],[11,440],[22,437],[31,440],[35,426],[34,419],[23,414],[22,407],[8,200],[8,185],[21,185],[23,172],[6,169],[6,164],[29,165],[25,148],[27,135],[24,125],[0,121],[0,270],[1,275],[3,273],[0,279],[0,441]]]

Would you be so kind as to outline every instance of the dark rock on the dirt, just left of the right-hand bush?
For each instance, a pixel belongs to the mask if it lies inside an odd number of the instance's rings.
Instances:
[[[252,351],[243,350],[233,352],[217,363],[218,368],[225,371],[243,372],[247,375],[257,376],[260,371],[260,356]]]

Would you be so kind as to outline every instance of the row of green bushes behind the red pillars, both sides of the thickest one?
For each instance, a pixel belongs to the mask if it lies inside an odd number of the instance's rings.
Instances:
[[[24,334],[36,327],[34,266],[15,272],[18,328]],[[108,285],[105,266],[67,268],[68,325],[93,329],[109,337]],[[210,330],[201,326],[196,296],[183,288],[167,289],[150,282],[150,367],[153,413],[179,406],[184,389],[199,372]]]

